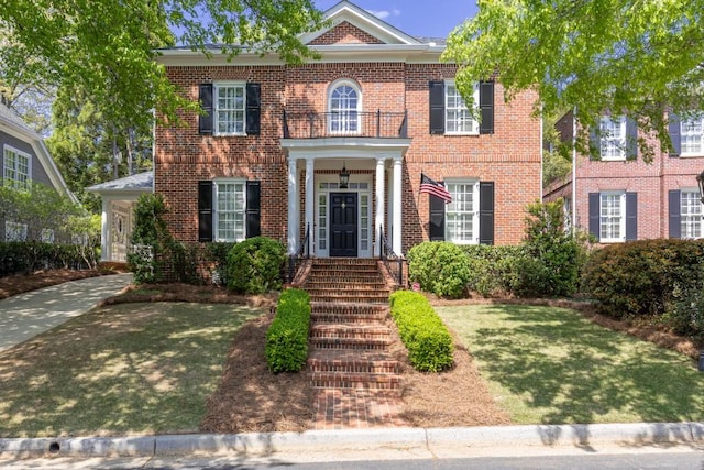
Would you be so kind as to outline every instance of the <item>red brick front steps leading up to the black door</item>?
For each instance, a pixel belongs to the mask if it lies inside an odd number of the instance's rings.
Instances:
[[[389,288],[376,260],[314,260],[308,371],[316,428],[404,426],[400,363],[389,349]]]

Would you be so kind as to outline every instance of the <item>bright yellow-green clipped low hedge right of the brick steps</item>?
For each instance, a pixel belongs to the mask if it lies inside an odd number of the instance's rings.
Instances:
[[[408,359],[416,370],[440,372],[454,363],[454,343],[440,317],[421,294],[397,291],[389,297],[391,314]]]

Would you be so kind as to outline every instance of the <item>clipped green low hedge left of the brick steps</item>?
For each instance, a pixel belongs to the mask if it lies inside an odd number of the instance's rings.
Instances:
[[[266,364],[277,372],[298,372],[308,359],[308,329],[310,325],[310,296],[307,292],[289,288],[282,293],[276,317],[266,331]]]

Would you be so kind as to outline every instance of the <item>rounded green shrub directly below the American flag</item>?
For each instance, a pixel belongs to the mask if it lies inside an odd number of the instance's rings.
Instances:
[[[466,292],[470,263],[454,243],[429,241],[408,250],[408,274],[420,288],[441,297],[460,298]]]

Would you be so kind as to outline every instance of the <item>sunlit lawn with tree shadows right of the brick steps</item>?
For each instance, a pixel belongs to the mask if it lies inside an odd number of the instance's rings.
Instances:
[[[704,419],[695,362],[552,307],[437,307],[516,424]]]

